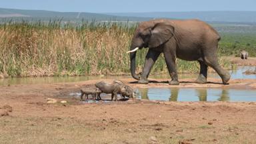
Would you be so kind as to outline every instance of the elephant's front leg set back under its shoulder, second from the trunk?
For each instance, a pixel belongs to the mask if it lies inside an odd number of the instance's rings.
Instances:
[[[165,51],[163,53],[165,55],[165,62],[167,65],[167,69],[171,76],[171,81],[169,81],[169,85],[179,85],[177,69],[176,69],[176,56],[171,51]]]

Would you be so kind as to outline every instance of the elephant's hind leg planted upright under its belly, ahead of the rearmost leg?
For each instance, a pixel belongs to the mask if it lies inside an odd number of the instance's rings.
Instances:
[[[199,76],[197,77],[196,82],[197,83],[207,83],[207,69],[208,65],[205,64],[205,62],[199,60],[198,61],[200,64],[200,73]]]

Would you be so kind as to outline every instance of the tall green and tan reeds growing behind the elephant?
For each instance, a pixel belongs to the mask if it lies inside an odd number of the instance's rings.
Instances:
[[[38,77],[58,75],[120,75],[129,73],[129,50],[136,25],[128,23],[5,22],[0,25],[0,75]],[[233,55],[228,38],[220,53]],[[254,47],[249,44],[248,47]],[[238,48],[237,48],[238,49]],[[250,48],[251,49],[251,48]],[[253,50],[251,50],[253,51]],[[137,53],[137,71],[147,49]],[[229,61],[220,60],[230,68]],[[199,71],[197,62],[177,61],[179,72]],[[163,55],[151,73],[167,72]]]

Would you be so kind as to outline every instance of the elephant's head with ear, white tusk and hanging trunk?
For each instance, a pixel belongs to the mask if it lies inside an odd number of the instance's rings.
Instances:
[[[149,49],[159,47],[171,39],[174,35],[173,33],[174,27],[164,23],[163,21],[146,21],[139,24],[133,34],[131,49],[130,51],[127,51],[127,53],[130,53],[131,75],[134,79],[140,79],[139,75],[135,73],[137,49],[141,49],[143,47],[149,47]]]

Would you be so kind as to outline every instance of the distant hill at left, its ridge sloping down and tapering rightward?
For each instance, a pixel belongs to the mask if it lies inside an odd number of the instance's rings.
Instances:
[[[21,10],[0,8],[0,19],[42,20],[62,19],[63,21],[147,21],[149,17],[125,17],[100,13],[75,13],[44,10]]]

